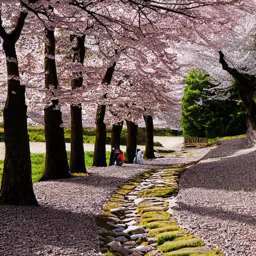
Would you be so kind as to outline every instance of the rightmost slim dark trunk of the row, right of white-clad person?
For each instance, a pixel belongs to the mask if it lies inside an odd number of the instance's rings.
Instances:
[[[151,115],[143,114],[143,118],[145,120],[146,126],[146,144],[145,144],[145,152],[144,156],[148,159],[155,158],[154,156],[154,127],[153,127],[153,119]]]

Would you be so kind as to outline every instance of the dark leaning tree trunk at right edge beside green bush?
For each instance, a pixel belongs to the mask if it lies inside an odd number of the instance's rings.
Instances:
[[[237,69],[229,67],[221,51],[219,51],[219,62],[222,65],[222,69],[233,77],[233,88],[248,110],[246,117],[247,135],[253,143],[256,143],[256,103],[253,100],[256,78],[254,75],[239,72]]]

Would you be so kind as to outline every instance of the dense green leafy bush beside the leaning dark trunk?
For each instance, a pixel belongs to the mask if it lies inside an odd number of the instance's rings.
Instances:
[[[187,85],[182,99],[181,127],[185,136],[213,138],[246,132],[247,111],[234,91],[229,91],[228,99],[210,99],[215,85],[208,74],[196,69],[189,72],[184,82]]]

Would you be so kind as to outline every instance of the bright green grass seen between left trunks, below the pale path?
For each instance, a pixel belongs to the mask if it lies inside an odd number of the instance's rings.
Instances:
[[[106,159],[107,163],[109,162],[110,152],[106,152]],[[84,158],[85,158],[85,165],[86,166],[92,166],[93,161],[93,152],[92,151],[85,151],[84,152]],[[68,164],[70,161],[70,151],[67,151],[67,159]],[[45,163],[45,154],[31,154],[31,166],[32,166],[32,182],[38,181],[38,179],[41,177],[43,169],[44,169],[44,163]],[[2,170],[3,170],[3,160],[0,160],[0,183],[2,178]],[[73,173],[72,173],[73,175]],[[77,175],[77,174],[74,174]],[[82,174],[79,174],[82,175]]]

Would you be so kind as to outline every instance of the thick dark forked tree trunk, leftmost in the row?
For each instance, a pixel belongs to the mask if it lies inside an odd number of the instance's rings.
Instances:
[[[7,34],[1,26],[7,64],[7,99],[3,109],[5,157],[0,189],[0,203],[38,205],[33,192],[29,137],[25,104],[25,86],[20,85],[15,43],[26,13],[20,12],[15,29]]]

